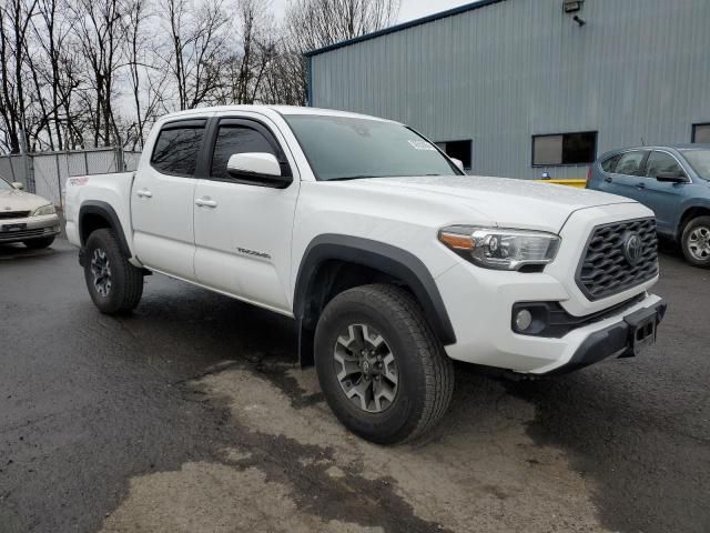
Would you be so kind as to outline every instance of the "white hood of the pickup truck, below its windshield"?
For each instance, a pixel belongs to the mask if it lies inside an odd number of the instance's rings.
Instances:
[[[445,201],[463,203],[498,227],[554,232],[559,231],[569,215],[580,209],[637,203],[606,192],[508,178],[425,175],[374,178],[357,182],[375,189],[397,188],[399,191],[422,192],[429,198],[438,195]]]

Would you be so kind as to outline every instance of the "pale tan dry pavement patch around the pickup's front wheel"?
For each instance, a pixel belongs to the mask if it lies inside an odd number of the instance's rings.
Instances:
[[[341,426],[313,370],[237,368],[191,386],[243,440],[220,462],[132,479],[105,532],[605,531],[564,452],[526,434],[535,408],[497,381],[457,383],[428,440],[393,447]]]

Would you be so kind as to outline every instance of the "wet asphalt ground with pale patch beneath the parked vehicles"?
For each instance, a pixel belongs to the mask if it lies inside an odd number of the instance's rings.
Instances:
[[[154,275],[98,313],[58,240],[0,247],[0,532],[710,531],[710,272],[661,257],[640,358],[457,365],[416,445],[344,431],[293,323]]]

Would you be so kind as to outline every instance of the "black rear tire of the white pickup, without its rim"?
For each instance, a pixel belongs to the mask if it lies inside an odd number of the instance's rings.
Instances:
[[[102,295],[94,286],[92,258],[102,250],[111,269],[111,288]],[[112,230],[101,229],[89,235],[84,255],[84,279],[91,300],[104,314],[125,313],[135,309],[143,295],[143,272],[129,263]]]

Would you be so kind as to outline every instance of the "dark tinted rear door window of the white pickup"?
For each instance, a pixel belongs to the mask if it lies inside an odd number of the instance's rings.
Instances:
[[[163,128],[155,141],[151,164],[165,174],[194,174],[203,137],[204,123]]]

